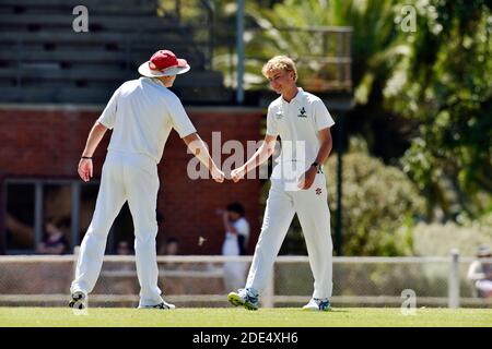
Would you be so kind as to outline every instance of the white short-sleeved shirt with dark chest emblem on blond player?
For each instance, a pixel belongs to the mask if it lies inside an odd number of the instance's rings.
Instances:
[[[290,103],[280,96],[270,104],[267,115],[267,134],[280,135],[282,140],[282,152],[277,161],[298,161],[311,166],[321,144],[318,131],[333,124],[319,97],[302,88]]]

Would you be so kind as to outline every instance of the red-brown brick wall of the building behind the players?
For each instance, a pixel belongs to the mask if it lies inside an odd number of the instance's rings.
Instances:
[[[96,107],[2,106],[0,181],[20,177],[77,179],[79,157],[101,110]],[[190,108],[188,113],[209,146],[212,132],[218,131],[222,142],[238,140],[246,144],[248,140],[260,140],[262,113],[259,110],[208,107]],[[101,176],[108,140],[109,134],[94,154],[95,178]],[[163,213],[165,224],[157,242],[174,236],[180,240],[183,254],[220,254],[224,231],[215,209],[239,201],[245,205],[246,217],[251,225],[248,252],[253,253],[260,228],[259,180],[237,184],[191,180],[187,176],[190,158],[184,142],[176,132],[172,132],[159,165],[161,189],[157,209]],[[3,213],[3,204],[0,202],[0,213]],[[0,214],[0,225],[3,221]],[[198,244],[199,237],[207,239],[201,245]]]

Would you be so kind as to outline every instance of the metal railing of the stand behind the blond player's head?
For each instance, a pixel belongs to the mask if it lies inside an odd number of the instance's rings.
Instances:
[[[215,47],[215,69],[224,73],[224,84],[232,88],[239,88],[239,84],[248,83],[242,79],[238,69],[243,59],[249,68],[256,67],[254,75],[261,76],[261,67],[272,56],[288,55],[296,62],[300,72],[300,84],[311,92],[351,92],[352,91],[352,27],[319,26],[319,27],[281,27],[274,28],[277,33],[295,33],[295,35],[308,36],[311,44],[317,50],[296,50],[291,47],[286,52],[282,49],[272,50],[271,56],[258,53],[251,41],[245,43],[244,57],[237,52],[234,28],[215,27],[216,32],[230,33],[230,37],[221,39],[221,47]],[[259,27],[245,28],[248,36],[259,37],[269,35],[269,31]],[[222,34],[223,36],[225,34]],[[245,34],[246,35],[246,34]],[[224,50],[225,48],[225,50]],[[251,72],[248,73],[251,75]],[[254,88],[266,88],[267,83],[258,83]]]

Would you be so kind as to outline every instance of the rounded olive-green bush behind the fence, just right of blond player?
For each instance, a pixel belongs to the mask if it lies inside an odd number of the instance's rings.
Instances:
[[[410,255],[411,226],[423,202],[408,177],[368,156],[352,142],[343,156],[342,229],[344,255]],[[358,148],[359,147],[359,148]],[[337,158],[330,157],[327,179],[333,231],[336,228]]]

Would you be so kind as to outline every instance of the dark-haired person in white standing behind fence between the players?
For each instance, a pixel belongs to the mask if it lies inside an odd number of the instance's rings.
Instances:
[[[239,203],[231,203],[222,213],[225,240],[222,255],[245,255],[249,240],[249,224],[245,218],[245,209]],[[226,289],[236,289],[246,278],[245,262],[224,263],[224,285]]]

